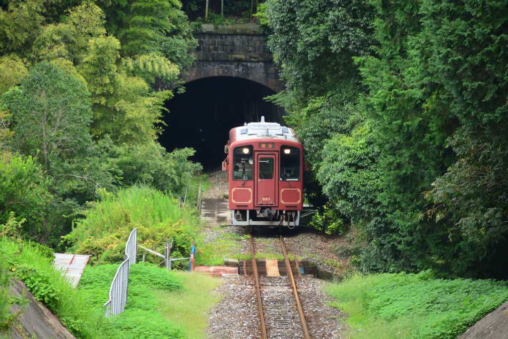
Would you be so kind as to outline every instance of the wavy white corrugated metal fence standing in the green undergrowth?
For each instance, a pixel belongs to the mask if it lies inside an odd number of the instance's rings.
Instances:
[[[109,289],[109,300],[102,308],[106,315],[106,318],[116,316],[125,309],[125,303],[127,302],[127,290],[129,284],[129,270],[131,264],[136,263],[136,251],[138,248],[138,229],[132,230],[129,235],[129,240],[125,244],[125,257],[123,262],[116,271],[115,278],[111,282],[111,288]]]

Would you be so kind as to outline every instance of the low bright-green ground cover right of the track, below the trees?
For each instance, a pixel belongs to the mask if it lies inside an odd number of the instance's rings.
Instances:
[[[506,282],[419,274],[354,275],[326,292],[349,318],[352,339],[455,339],[506,299]]]

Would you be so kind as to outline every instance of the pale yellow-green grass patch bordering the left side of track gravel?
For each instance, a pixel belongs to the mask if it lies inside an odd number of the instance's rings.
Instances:
[[[210,293],[220,285],[220,279],[199,272],[175,271],[184,289],[177,293],[157,291],[162,316],[183,329],[187,338],[205,338],[210,310],[219,296]]]

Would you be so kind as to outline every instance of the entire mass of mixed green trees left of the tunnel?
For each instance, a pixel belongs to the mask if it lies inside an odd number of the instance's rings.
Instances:
[[[157,143],[193,38],[177,0],[0,2],[0,223],[60,246],[77,211],[136,182],[184,195],[192,149]],[[60,251],[65,250],[61,247]]]

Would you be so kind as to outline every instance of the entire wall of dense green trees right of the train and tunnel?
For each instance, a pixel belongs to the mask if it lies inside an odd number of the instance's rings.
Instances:
[[[507,277],[506,11],[266,2],[288,84],[271,99],[312,164],[309,201],[355,226],[362,269]]]

